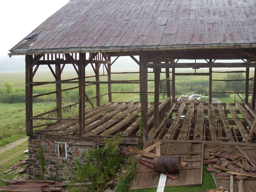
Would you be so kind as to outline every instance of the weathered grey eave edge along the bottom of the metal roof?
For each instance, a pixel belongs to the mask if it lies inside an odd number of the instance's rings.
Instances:
[[[194,44],[194,45],[156,45],[156,46],[111,46],[111,47],[70,47],[54,49],[20,49],[10,51],[8,55],[32,55],[54,53],[86,53],[86,52],[140,52],[140,51],[182,51],[206,49],[248,49],[256,48],[256,43],[236,44]]]

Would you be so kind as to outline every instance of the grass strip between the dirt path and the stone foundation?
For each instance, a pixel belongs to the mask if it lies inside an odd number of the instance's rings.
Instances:
[[[17,175],[17,174],[14,174],[17,171],[16,169],[7,174],[3,174],[3,173],[9,170],[12,164],[18,162],[21,159],[24,159],[23,156],[28,155],[27,153],[24,153],[24,151],[27,149],[28,149],[28,141],[24,141],[20,145],[0,154],[0,179],[13,179]],[[3,185],[5,185],[4,181],[0,180],[0,186],[3,186]]]

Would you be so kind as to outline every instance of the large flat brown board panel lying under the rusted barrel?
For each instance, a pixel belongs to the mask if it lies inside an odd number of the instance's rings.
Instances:
[[[146,144],[146,146],[150,146],[153,142],[148,141]],[[182,143],[179,141],[177,141],[177,143],[168,143],[166,141],[161,144],[161,154],[175,152],[198,152],[200,155],[181,155],[181,159],[203,160],[203,143]],[[151,151],[151,153],[155,154],[155,149]],[[167,177],[165,186],[200,185],[202,183],[202,166],[203,162],[198,161],[188,165],[190,169],[184,168],[181,169],[180,173],[171,173],[172,175],[177,176],[177,178],[173,180]],[[194,167],[194,169],[191,167]],[[159,178],[160,173],[154,172],[153,169],[149,169],[145,165],[138,163],[136,179],[131,182],[129,189],[156,188],[158,186]]]

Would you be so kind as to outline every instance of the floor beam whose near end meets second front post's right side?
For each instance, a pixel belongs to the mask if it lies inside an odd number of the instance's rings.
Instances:
[[[114,111],[110,111],[107,115],[104,115],[101,118],[97,119],[96,121],[93,121],[92,123],[86,125],[84,131],[85,132],[91,131],[92,129],[101,125],[102,123],[105,123],[106,121],[108,121],[109,119],[111,119],[112,117],[117,115],[118,113],[126,110],[129,106],[130,105],[126,105],[125,102],[122,103],[121,105],[118,105],[117,108]],[[86,133],[86,134],[88,134],[88,133]]]

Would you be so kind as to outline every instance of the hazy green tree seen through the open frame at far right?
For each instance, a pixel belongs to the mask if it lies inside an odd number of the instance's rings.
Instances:
[[[228,79],[245,79],[242,73],[227,73],[226,80]],[[226,91],[233,91],[241,99],[241,102],[245,101],[245,94],[239,94],[238,92],[245,92],[245,81],[226,81]]]

